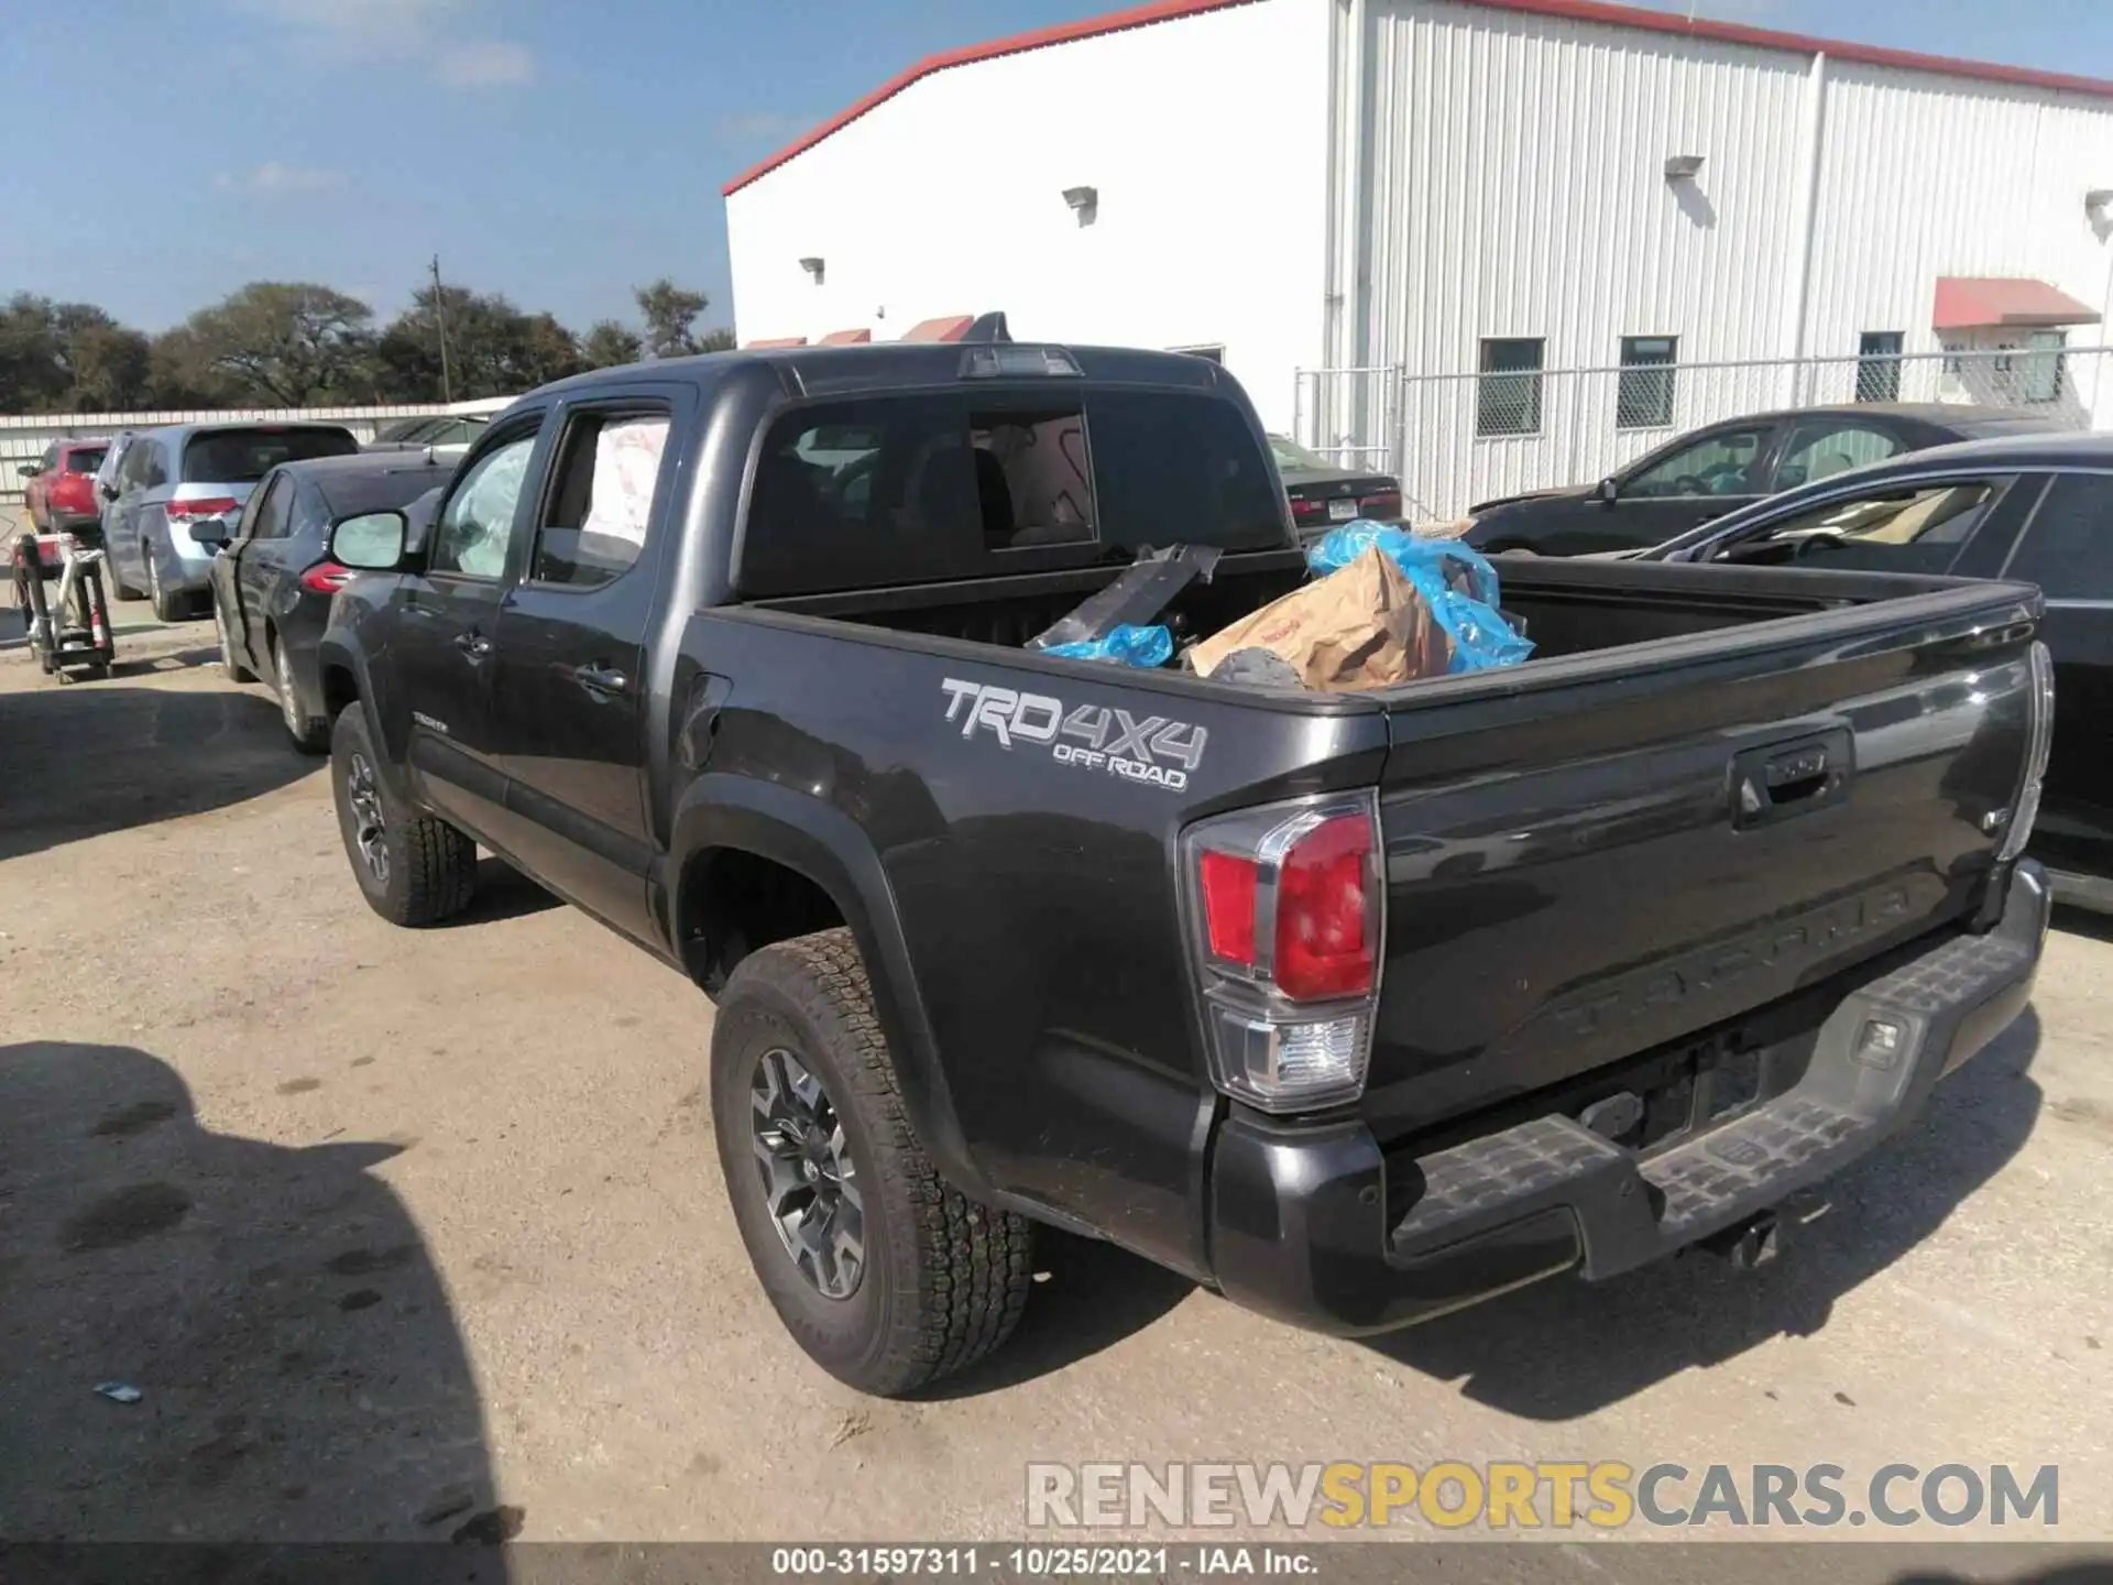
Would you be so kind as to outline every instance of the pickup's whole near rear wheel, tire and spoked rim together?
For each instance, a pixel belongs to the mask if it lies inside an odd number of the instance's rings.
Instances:
[[[1033,1228],[949,1188],[917,1143],[849,930],[733,970],[712,1129],[756,1279],[830,1376],[896,1397],[1012,1336]]]

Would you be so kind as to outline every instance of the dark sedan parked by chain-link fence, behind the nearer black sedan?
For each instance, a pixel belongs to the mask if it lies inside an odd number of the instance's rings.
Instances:
[[[1779,490],[1887,456],[2056,429],[2052,418],[2024,408],[1946,402],[1853,402],[1726,418],[1646,452],[1597,484],[1483,501],[1469,509],[1475,522],[1466,543],[1540,556],[1646,549]]]

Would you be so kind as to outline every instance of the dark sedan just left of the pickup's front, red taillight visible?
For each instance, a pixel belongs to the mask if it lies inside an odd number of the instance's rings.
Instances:
[[[298,748],[330,746],[315,642],[330,596],[351,573],[330,560],[332,530],[370,511],[399,511],[440,488],[450,461],[418,452],[372,452],[281,463],[258,484],[235,537],[209,571],[220,661],[237,683],[270,680]]]

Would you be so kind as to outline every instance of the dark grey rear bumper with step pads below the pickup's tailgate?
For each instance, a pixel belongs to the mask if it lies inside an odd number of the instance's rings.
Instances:
[[[1667,1150],[1545,1116],[1388,1162],[1363,1122],[1230,1118],[1209,1181],[1217,1285],[1357,1336],[1572,1268],[1614,1276],[1737,1228],[1870,1152],[2024,1010],[2047,915],[2047,877],[2024,862],[1993,930],[1851,989],[1796,1084]],[[1900,1031],[1895,1048],[1866,1046],[1872,1021]]]

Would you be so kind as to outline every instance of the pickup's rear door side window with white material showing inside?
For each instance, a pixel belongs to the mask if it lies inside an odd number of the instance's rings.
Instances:
[[[598,585],[647,545],[668,412],[583,412],[566,423],[556,488],[537,524],[532,583]]]

